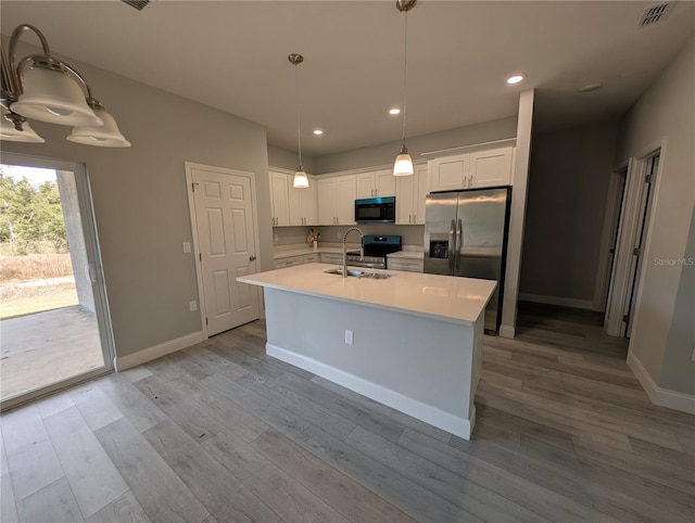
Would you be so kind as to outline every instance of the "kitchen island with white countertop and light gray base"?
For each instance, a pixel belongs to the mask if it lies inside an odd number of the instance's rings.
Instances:
[[[438,275],[372,280],[307,264],[238,278],[264,288],[269,356],[470,438],[483,314],[496,283]]]

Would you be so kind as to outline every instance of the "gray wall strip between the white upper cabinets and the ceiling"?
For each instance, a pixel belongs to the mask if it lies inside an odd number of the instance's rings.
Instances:
[[[440,151],[442,149],[472,145],[493,140],[515,138],[517,135],[517,116],[485,122],[468,127],[459,127],[431,135],[408,138],[406,144],[413,161],[422,160],[426,152]],[[314,171],[312,174],[336,173],[340,170],[358,169],[375,165],[388,165],[393,163],[401,151],[401,140],[381,143],[369,148],[355,149],[337,154],[327,154],[314,157]]]

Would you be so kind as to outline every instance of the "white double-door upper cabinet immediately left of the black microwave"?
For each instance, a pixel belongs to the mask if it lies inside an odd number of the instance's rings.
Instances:
[[[318,225],[344,226],[355,222],[355,175],[319,177],[316,182],[318,195]]]

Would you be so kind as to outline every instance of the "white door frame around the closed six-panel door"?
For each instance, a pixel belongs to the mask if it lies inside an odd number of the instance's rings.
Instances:
[[[205,309],[205,288],[203,286],[203,273],[201,271],[201,251],[200,239],[198,238],[198,216],[195,215],[195,197],[193,195],[193,169],[214,170],[220,175],[241,176],[249,179],[251,186],[251,213],[253,219],[254,241],[256,242],[256,267],[262,267],[261,259],[261,242],[258,238],[258,215],[257,215],[257,197],[256,197],[256,175],[245,170],[229,169],[227,167],[218,167],[216,165],[198,164],[194,162],[185,162],[186,166],[186,194],[188,195],[188,212],[191,220],[191,238],[193,239],[193,256],[195,258],[195,280],[198,282],[198,310],[200,310],[200,323],[203,332],[203,340],[210,339],[207,330],[207,311]],[[252,292],[258,293],[258,314],[263,310],[263,299],[261,288],[255,288]]]

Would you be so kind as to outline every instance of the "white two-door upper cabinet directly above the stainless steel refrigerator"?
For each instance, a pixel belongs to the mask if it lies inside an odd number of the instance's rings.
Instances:
[[[508,146],[433,158],[430,162],[430,190],[509,186],[513,151],[514,148]]]

